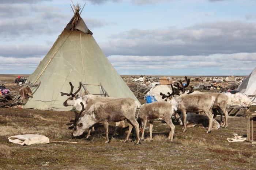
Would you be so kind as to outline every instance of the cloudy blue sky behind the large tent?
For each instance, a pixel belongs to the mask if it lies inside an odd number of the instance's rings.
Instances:
[[[256,67],[255,0],[78,3],[119,74],[248,75]],[[72,18],[71,1],[0,4],[0,74],[31,74]]]

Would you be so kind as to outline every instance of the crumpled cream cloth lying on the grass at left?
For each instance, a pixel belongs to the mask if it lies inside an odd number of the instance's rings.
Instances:
[[[8,138],[9,142],[20,144],[20,145],[27,145],[30,146],[31,144],[47,144],[49,143],[49,138],[44,135],[16,135],[11,136]]]

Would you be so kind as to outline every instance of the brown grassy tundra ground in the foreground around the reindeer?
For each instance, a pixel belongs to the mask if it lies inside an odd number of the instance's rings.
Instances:
[[[73,118],[73,112],[0,109],[0,169],[256,169],[255,145],[226,140],[233,133],[246,134],[246,120],[241,117],[229,118],[228,128],[210,134],[204,128],[182,132],[176,125],[173,142],[167,140],[167,125],[155,122],[153,141],[146,139],[138,146],[122,143],[122,130],[105,144],[101,125],[90,140],[71,139],[65,124]],[[19,146],[8,142],[9,136],[20,134],[78,143]]]

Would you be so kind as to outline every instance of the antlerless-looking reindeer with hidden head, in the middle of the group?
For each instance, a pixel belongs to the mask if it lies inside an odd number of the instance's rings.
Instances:
[[[150,120],[150,140],[152,140],[153,121],[157,118],[162,118],[170,127],[168,139],[173,141],[173,134],[175,126],[172,123],[172,115],[174,109],[171,104],[164,101],[157,101],[149,104],[143,104],[140,107],[137,119],[143,121],[143,130],[141,139],[144,140],[144,132],[147,124],[147,120]]]

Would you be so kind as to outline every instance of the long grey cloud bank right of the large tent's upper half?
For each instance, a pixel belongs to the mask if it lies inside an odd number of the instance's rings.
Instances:
[[[210,55],[256,52],[256,23],[240,21],[196,24],[111,35],[102,45],[107,55]]]

